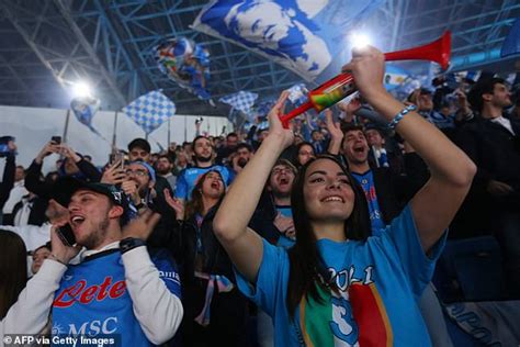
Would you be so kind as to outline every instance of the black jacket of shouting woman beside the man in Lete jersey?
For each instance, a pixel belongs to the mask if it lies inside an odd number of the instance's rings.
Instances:
[[[169,231],[156,230],[151,235],[154,243],[168,245],[179,266],[184,307],[180,335],[185,346],[213,346],[215,342],[225,346],[247,344],[247,300],[238,291],[231,261],[213,233],[213,219],[217,209],[218,205],[208,211],[200,228],[192,217],[170,224],[172,228]],[[194,322],[204,306],[207,288],[206,280],[194,276],[197,234],[202,243],[202,272],[223,275],[235,283],[230,292],[218,293],[215,289],[211,323],[206,327]]]

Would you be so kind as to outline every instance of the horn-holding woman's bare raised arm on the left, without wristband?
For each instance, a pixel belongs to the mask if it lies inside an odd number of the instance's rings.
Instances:
[[[293,132],[284,130],[279,119],[287,93],[269,112],[269,135],[236,177],[213,221],[213,230],[241,275],[255,283],[263,255],[261,237],[247,227],[257,208],[269,172],[282,150],[293,143]]]

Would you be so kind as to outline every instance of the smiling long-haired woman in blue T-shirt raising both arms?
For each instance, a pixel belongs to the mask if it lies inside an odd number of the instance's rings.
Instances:
[[[296,244],[274,247],[247,227],[278,156],[294,138],[282,127],[284,93],[269,114],[270,133],[229,188],[215,216],[219,242],[238,270],[238,287],[273,317],[276,346],[430,346],[417,305],[445,239],[444,230],[470,189],[474,164],[434,126],[382,85],[383,54],[353,53],[350,70],[365,100],[422,156],[430,181],[380,236],[362,189],[334,157],[296,176],[291,202]],[[361,132],[359,132],[361,133]],[[366,139],[347,136],[352,156]],[[432,205],[437,208],[431,209]]]

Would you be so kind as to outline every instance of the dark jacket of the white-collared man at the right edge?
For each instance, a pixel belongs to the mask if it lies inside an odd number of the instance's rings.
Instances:
[[[452,226],[452,237],[486,235],[497,228],[502,211],[520,206],[520,121],[511,120],[512,135],[502,125],[476,117],[457,134],[456,144],[477,166],[466,199]],[[490,180],[515,189],[512,194],[494,197],[487,191]]]

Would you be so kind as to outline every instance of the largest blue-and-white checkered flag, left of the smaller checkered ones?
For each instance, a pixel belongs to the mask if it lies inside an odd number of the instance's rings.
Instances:
[[[150,91],[123,109],[123,112],[139,125],[146,134],[159,127],[176,114],[176,104],[159,90]]]

